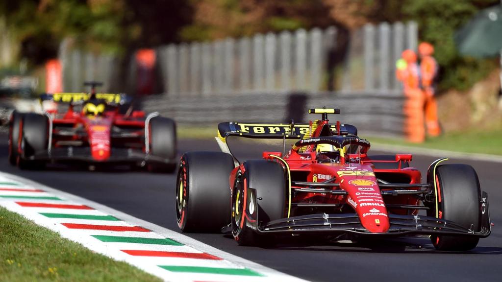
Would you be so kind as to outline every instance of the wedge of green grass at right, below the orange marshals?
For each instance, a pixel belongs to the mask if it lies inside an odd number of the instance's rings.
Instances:
[[[438,137],[427,138],[422,144],[406,142],[404,139],[371,136],[367,138],[372,144],[411,146],[462,153],[502,155],[502,130],[448,132]]]

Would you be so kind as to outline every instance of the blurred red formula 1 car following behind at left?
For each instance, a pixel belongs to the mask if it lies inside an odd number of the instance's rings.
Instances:
[[[155,171],[176,168],[176,124],[158,113],[119,112],[124,94],[42,95],[43,114],[14,111],[10,118],[9,162],[36,169],[47,162],[130,163]]]

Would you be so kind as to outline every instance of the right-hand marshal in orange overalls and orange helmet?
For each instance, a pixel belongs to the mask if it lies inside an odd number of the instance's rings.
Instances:
[[[437,102],[435,97],[434,80],[437,76],[438,64],[432,54],[434,47],[426,42],[419,45],[420,54],[420,73],[422,88],[425,95],[425,124],[429,136],[438,136],[441,134],[437,114]]]

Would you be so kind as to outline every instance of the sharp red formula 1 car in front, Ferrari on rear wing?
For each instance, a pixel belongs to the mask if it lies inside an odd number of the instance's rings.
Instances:
[[[339,110],[309,112],[322,119],[223,122],[216,138],[223,153],[185,153],[176,186],[180,229],[226,226],[241,245],[281,235],[337,240],[425,234],[439,250],[461,251],[490,234],[487,194],[472,167],[439,159],[422,183],[420,171],[409,166],[411,155],[368,155],[370,144],[353,125],[328,123],[327,114]],[[285,156],[263,152],[262,160],[239,163],[226,144],[229,136],[299,140]]]

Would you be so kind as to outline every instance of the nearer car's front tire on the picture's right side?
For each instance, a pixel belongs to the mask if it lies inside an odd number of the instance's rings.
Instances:
[[[481,191],[477,174],[471,166],[442,165],[436,168],[438,189],[436,206],[427,211],[428,216],[451,220],[474,231],[481,228]],[[431,183],[434,185],[433,183]],[[431,241],[438,250],[467,251],[476,247],[478,237],[433,235]]]

